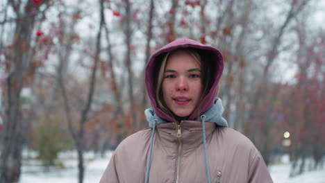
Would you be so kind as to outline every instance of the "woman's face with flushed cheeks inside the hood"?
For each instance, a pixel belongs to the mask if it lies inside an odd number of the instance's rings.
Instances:
[[[189,116],[197,107],[202,92],[201,67],[190,53],[169,55],[163,79],[163,98],[176,116]]]

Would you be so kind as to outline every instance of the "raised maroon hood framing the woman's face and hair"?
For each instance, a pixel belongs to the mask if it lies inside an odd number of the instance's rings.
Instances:
[[[146,82],[146,87],[147,87],[147,93],[150,98],[151,107],[153,108],[156,115],[158,117],[160,117],[161,119],[165,119],[167,121],[173,121],[172,117],[169,116],[168,114],[166,114],[165,112],[163,112],[162,110],[160,110],[156,104],[155,91],[153,89],[153,79],[154,79],[153,71],[155,69],[153,67],[155,65],[154,63],[157,61],[157,58],[160,54],[166,53],[168,51],[172,51],[172,50],[178,49],[178,48],[195,48],[195,49],[210,51],[213,55],[213,57],[210,59],[210,62],[216,63],[215,64],[215,66],[216,66],[215,67],[215,76],[214,76],[215,81],[213,83],[213,86],[211,87],[210,92],[208,92],[208,94],[203,98],[203,101],[202,101],[201,105],[199,106],[199,108],[197,110],[195,110],[194,112],[192,112],[192,114],[188,120],[194,120],[195,118],[197,118],[196,114],[198,111],[200,111],[201,114],[203,114],[204,112],[206,112],[206,110],[208,110],[210,107],[213,106],[215,97],[217,96],[217,92],[218,92],[219,79],[222,76],[222,71],[224,69],[224,58],[222,57],[222,53],[218,49],[215,49],[212,46],[206,46],[204,44],[201,44],[200,42],[196,42],[194,40],[190,40],[187,38],[175,40],[174,42],[171,42],[171,43],[163,46],[163,48],[156,51],[156,53],[153,53],[153,55],[151,55],[151,57],[149,59],[149,62],[147,63],[147,67],[145,69],[145,82]]]

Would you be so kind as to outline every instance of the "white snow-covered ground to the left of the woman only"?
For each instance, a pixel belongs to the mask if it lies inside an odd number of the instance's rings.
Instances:
[[[105,157],[96,157],[93,153],[85,153],[85,175],[84,182],[99,182],[101,175],[105,171],[106,166],[113,152],[106,153]],[[68,152],[60,154],[58,157],[64,168],[51,167],[44,170],[37,160],[25,160],[22,166],[22,175],[19,183],[74,183],[78,182],[78,159],[76,152]]]

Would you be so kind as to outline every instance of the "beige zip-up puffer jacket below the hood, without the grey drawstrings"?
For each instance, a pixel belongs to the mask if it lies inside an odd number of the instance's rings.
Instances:
[[[126,138],[110,159],[101,183],[144,182],[151,128]],[[157,125],[149,182],[208,182],[200,121]],[[253,143],[230,128],[206,122],[211,182],[267,183],[272,179]]]

